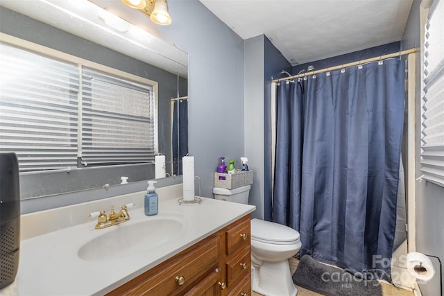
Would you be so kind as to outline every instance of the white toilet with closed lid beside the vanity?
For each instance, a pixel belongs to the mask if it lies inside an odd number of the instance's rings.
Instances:
[[[216,200],[248,204],[250,185],[236,189],[213,189]],[[255,267],[253,290],[266,296],[294,296],[298,293],[288,259],[301,247],[295,229],[259,219],[251,220],[251,262]]]

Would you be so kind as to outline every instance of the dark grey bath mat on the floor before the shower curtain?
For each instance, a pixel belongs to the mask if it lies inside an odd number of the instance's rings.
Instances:
[[[320,263],[304,255],[293,274],[293,283],[327,296],[381,296],[379,281],[364,281],[349,272]]]

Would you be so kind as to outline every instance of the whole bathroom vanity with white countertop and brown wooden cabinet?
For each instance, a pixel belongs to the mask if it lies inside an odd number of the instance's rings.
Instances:
[[[156,191],[157,216],[144,215],[144,191],[23,215],[17,278],[0,295],[251,295],[255,207],[180,205],[181,184]],[[125,223],[87,218],[129,202]]]

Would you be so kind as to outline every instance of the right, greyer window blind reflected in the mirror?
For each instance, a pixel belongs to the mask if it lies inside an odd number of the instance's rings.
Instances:
[[[153,162],[152,87],[83,69],[82,151],[87,164]]]

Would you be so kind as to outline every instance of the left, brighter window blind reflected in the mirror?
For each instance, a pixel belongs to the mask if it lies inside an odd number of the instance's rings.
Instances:
[[[0,151],[20,171],[77,164],[78,67],[0,44]]]

